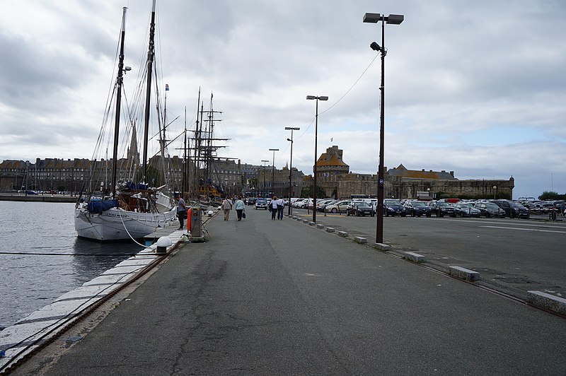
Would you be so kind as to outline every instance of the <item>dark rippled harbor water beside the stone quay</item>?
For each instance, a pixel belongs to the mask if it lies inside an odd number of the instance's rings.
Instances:
[[[76,237],[74,204],[0,201],[0,329],[141,249]]]

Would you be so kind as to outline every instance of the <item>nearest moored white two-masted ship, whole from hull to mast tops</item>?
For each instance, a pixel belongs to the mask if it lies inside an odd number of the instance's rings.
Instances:
[[[153,0],[147,59],[137,77],[135,87],[138,90],[133,98],[127,98],[124,90],[125,74],[132,69],[124,65],[127,8],[123,9],[117,67],[112,74],[115,78],[112,79],[92,168],[74,210],[75,229],[81,238],[101,242],[139,239],[158,228],[178,225],[175,201],[168,182],[166,111],[161,106],[161,96],[168,88],[161,93],[163,86],[158,84],[155,9],[156,1]],[[122,106],[125,111],[121,111]],[[153,117],[152,108],[157,109]],[[143,125],[140,132],[137,124]],[[141,134],[143,145],[141,164],[137,134]],[[158,141],[155,153],[149,151],[150,139]],[[112,158],[108,159],[110,143]],[[102,158],[104,152],[105,159]],[[150,157],[149,153],[154,155]]]

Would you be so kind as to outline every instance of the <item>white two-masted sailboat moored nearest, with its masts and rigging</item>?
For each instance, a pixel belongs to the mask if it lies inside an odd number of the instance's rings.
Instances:
[[[103,165],[108,166],[108,160],[98,161],[93,158],[93,165],[90,171],[90,176],[88,177],[88,190],[86,194],[81,195],[76,203],[74,211],[74,223],[76,233],[79,237],[88,240],[97,240],[101,242],[105,241],[115,241],[115,240],[127,240],[127,239],[139,239],[150,233],[154,233],[158,228],[177,225],[176,222],[176,208],[175,202],[171,198],[171,195],[166,194],[164,191],[167,189],[168,184],[166,182],[165,173],[165,163],[161,163],[159,168],[153,168],[150,171],[148,166],[148,141],[149,141],[149,120],[150,120],[150,108],[151,106],[151,81],[153,76],[153,67],[155,62],[155,8],[156,0],[153,0],[153,7],[151,10],[151,23],[149,31],[149,48],[147,54],[147,61],[145,64],[145,77],[144,83],[146,85],[145,93],[145,107],[144,107],[144,153],[142,159],[141,170],[139,170],[139,155],[137,154],[137,146],[134,141],[136,138],[135,120],[129,119],[129,125],[132,127],[127,127],[126,129],[132,130],[132,142],[130,143],[130,148],[135,150],[130,150],[128,148],[127,158],[118,157],[118,148],[120,146],[120,107],[122,105],[122,91],[124,85],[124,75],[131,68],[124,66],[124,41],[125,41],[125,19],[127,8],[123,9],[122,14],[122,27],[120,30],[120,42],[119,42],[119,61],[117,64],[117,76],[115,82],[113,83],[112,93],[115,93],[115,102],[109,101],[109,107],[112,103],[115,103],[115,117],[113,126],[113,152],[112,160],[112,182],[110,187],[107,187],[106,182],[100,182],[100,188],[98,182],[95,182],[98,171],[98,178],[103,176],[101,170],[103,170]],[[139,98],[143,98],[140,95]],[[159,106],[156,106],[159,108]],[[110,109],[105,111],[105,119],[108,120],[108,115]],[[130,111],[128,111],[130,114]],[[158,119],[160,127],[158,130],[160,139],[160,152],[161,160],[165,157],[165,131],[161,129],[161,117]],[[103,129],[105,129],[105,122],[103,122]],[[112,132],[106,131],[106,133],[111,134]],[[122,132],[123,133],[123,132]],[[100,131],[103,134],[103,130]],[[124,139],[125,137],[122,137]],[[99,142],[97,143],[96,150],[100,150],[100,140],[103,136],[99,136]],[[110,136],[108,136],[110,139]],[[151,158],[155,160],[155,158]],[[105,163],[104,163],[105,162]],[[161,177],[163,181],[160,187],[152,187],[149,184],[150,177],[151,183],[153,184],[155,180],[161,180],[160,177],[156,176],[156,170],[161,169]],[[128,177],[118,176],[118,172],[121,175],[128,174]],[[140,181],[134,183],[134,179],[138,177]],[[108,194],[108,195],[107,195]]]

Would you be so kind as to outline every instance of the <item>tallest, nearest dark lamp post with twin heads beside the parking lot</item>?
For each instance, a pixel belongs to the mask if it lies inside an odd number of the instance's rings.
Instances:
[[[379,13],[366,13],[364,15],[364,23],[378,23],[381,21],[381,47],[376,43],[372,42],[369,47],[374,51],[381,52],[381,116],[380,116],[380,126],[379,126],[379,171],[378,171],[378,185],[377,185],[377,225],[376,225],[376,243],[383,242],[383,184],[384,184],[384,172],[383,172],[383,139],[385,138],[385,56],[387,50],[385,49],[385,23],[391,23],[393,25],[399,25],[403,22],[405,16],[402,14],[390,14],[385,16]]]

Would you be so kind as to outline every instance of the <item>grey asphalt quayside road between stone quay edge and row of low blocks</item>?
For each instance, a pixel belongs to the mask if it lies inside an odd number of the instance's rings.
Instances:
[[[565,375],[566,320],[298,221],[207,223],[16,375]]]

